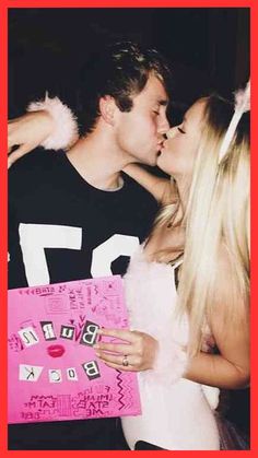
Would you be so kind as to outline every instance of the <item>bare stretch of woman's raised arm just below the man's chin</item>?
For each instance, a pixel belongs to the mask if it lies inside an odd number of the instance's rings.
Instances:
[[[157,177],[138,164],[129,164],[122,171],[145,188],[157,202],[172,203],[173,195],[175,195],[172,180]]]

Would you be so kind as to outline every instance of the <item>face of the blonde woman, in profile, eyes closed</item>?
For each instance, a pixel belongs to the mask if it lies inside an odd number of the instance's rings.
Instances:
[[[191,176],[201,138],[201,121],[206,102],[197,101],[185,114],[183,122],[167,132],[157,166],[174,178]]]

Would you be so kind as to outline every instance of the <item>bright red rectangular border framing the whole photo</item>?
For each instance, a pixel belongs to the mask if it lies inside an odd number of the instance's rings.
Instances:
[[[0,104],[0,119],[1,119],[1,130],[0,130],[0,197],[1,197],[1,218],[0,218],[0,297],[1,297],[1,307],[0,307],[0,322],[1,322],[1,345],[0,345],[0,356],[1,356],[1,397],[0,397],[0,451],[1,457],[5,457],[10,454],[17,454],[20,456],[44,456],[54,454],[55,457],[63,456],[71,454],[69,450],[57,450],[57,451],[13,451],[7,449],[7,107],[8,107],[8,9],[11,8],[250,8],[250,23],[251,23],[251,33],[250,33],[250,49],[251,49],[251,443],[250,450],[239,450],[242,456],[255,456],[258,450],[258,435],[255,435],[255,428],[258,426],[258,378],[257,378],[257,341],[258,332],[256,330],[256,322],[258,322],[257,314],[257,298],[258,298],[258,283],[255,281],[256,263],[258,262],[257,256],[257,242],[255,235],[257,234],[257,219],[255,214],[255,196],[257,192],[258,184],[258,160],[256,151],[258,150],[258,129],[255,127],[255,120],[258,119],[258,104],[257,104],[257,93],[258,87],[256,86],[256,81],[258,81],[257,74],[257,31],[258,31],[258,2],[256,0],[2,0],[0,4],[0,56],[2,57],[1,62],[1,73],[0,73],[0,94],[1,94],[1,104]],[[19,75],[17,75],[19,78]],[[197,412],[198,414],[198,412]],[[145,455],[150,457],[155,451],[138,451],[142,456]],[[214,454],[227,454],[227,456],[235,456],[238,454],[237,450],[227,450],[227,451],[163,451],[163,454],[181,457],[183,455],[190,454],[191,456],[199,456],[199,454],[206,454],[204,456],[214,456]],[[106,451],[72,451],[75,456],[84,456],[85,454],[104,457],[108,454]],[[130,451],[112,451],[112,454],[130,454]]]

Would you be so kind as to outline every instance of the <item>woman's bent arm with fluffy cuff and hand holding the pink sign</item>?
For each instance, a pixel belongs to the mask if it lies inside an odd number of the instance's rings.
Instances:
[[[166,383],[175,383],[179,378],[201,385],[210,385],[218,388],[238,389],[245,388],[249,383],[249,326],[248,312],[243,305],[243,313],[239,316],[227,314],[225,304],[234,297],[235,309],[236,295],[231,291],[232,269],[228,262],[220,262],[220,287],[214,297],[212,314],[209,325],[213,339],[220,354],[200,352],[197,356],[187,361],[186,351],[174,342],[164,331],[159,336],[146,330],[149,334],[138,331],[126,330],[103,330],[104,334],[125,339],[127,345],[117,343],[101,342],[97,349],[97,356],[108,366],[122,367],[122,355],[129,355],[130,366],[128,371],[145,371],[154,368],[153,375]],[[238,301],[241,295],[237,295]],[[232,307],[234,314],[234,307]],[[144,319],[143,325],[148,322]],[[148,325],[145,326],[148,329]],[[156,341],[156,345],[154,344]],[[110,352],[114,354],[110,355]]]

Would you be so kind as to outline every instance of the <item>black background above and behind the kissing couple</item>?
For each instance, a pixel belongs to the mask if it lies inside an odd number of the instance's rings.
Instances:
[[[248,8],[9,9],[10,117],[46,90],[75,108],[83,61],[114,38],[154,46],[169,59],[172,122],[208,90],[227,96],[249,77]],[[246,433],[248,407],[247,390],[223,402]]]

